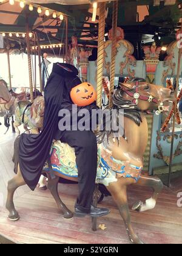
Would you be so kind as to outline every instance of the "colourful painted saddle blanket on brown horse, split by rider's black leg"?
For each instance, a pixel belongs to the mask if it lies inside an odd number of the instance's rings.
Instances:
[[[66,143],[54,141],[51,150],[51,163],[53,171],[67,177],[78,177],[75,151]],[[129,162],[121,162],[112,157],[112,154],[98,145],[98,169],[96,183],[108,186],[110,182],[117,181],[118,177],[132,177],[138,181],[143,167],[130,165]],[[45,163],[44,171],[49,171],[48,163]]]

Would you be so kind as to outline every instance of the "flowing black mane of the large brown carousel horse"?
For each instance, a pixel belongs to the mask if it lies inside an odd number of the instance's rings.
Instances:
[[[131,84],[131,83],[137,82],[137,81],[138,82],[144,82],[145,80],[142,79],[142,78],[139,78],[139,77],[135,77],[135,78],[132,78],[132,79],[128,80],[127,84]],[[120,86],[122,87],[122,84],[120,84]],[[141,110],[140,110],[140,108],[137,107],[137,105],[135,105],[131,101],[127,101],[126,99],[123,98],[122,88],[117,88],[114,91],[113,96],[112,96],[112,100],[113,100],[113,107],[110,108],[110,117],[112,118],[112,110],[115,109],[116,113],[117,113],[117,116],[116,116],[116,119],[117,119],[116,124],[117,125],[119,125],[120,110],[123,110],[125,117],[132,119],[132,121],[135,122],[135,124],[140,126],[140,124],[142,122],[141,115],[140,115]],[[98,143],[103,143],[103,141],[105,139],[107,139],[107,141],[108,141],[110,135],[112,135],[112,137],[114,137],[113,133],[115,133],[116,131],[114,131],[113,129],[106,130],[106,127],[107,127],[107,121],[104,120],[103,130],[100,130],[96,134]],[[125,135],[123,137],[125,137]]]

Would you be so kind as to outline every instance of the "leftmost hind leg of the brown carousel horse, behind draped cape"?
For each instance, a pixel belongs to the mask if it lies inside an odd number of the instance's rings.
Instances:
[[[7,201],[6,201],[5,207],[10,212],[10,214],[8,215],[8,218],[11,221],[18,221],[19,219],[18,212],[16,211],[15,205],[13,203],[13,196],[15,194],[16,189],[23,185],[25,185],[25,181],[21,175],[21,171],[18,166],[18,173],[12,180],[8,181],[8,186],[7,186],[8,195],[7,195]]]

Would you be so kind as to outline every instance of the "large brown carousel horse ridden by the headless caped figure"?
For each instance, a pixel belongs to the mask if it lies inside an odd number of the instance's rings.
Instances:
[[[137,202],[133,210],[144,212],[155,207],[163,183],[157,177],[141,175],[143,155],[148,140],[146,113],[164,110],[163,103],[174,101],[174,92],[143,79],[131,79],[120,85],[113,93],[113,108],[119,113],[124,110],[124,135],[113,139],[112,130],[98,133],[98,173],[96,183],[103,184],[118,206],[121,217],[126,225],[132,243],[142,244],[132,227],[130,210],[127,203],[127,186],[136,184],[141,187],[153,188],[152,197],[145,203]],[[112,111],[112,110],[110,110]],[[118,118],[118,116],[116,116]],[[119,118],[118,118],[119,121]],[[88,145],[89,146],[89,145]],[[19,140],[15,141],[15,172],[16,176],[8,182],[6,208],[10,212],[8,218],[17,221],[20,217],[13,203],[13,195],[18,187],[25,185],[19,168]],[[52,171],[52,172],[51,172]],[[77,181],[78,171],[75,163],[75,152],[67,144],[54,141],[51,151],[51,163],[45,163],[42,173],[48,177],[48,188],[56,204],[66,219],[72,219],[73,213],[61,201],[58,194],[59,177]],[[52,177],[54,174],[54,178]]]

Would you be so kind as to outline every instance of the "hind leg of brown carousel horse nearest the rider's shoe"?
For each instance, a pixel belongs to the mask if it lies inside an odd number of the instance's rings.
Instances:
[[[58,182],[59,177],[56,177],[55,179],[51,179],[50,175],[48,174],[48,185],[47,188],[49,188],[50,193],[54,197],[56,204],[58,205],[59,210],[64,215],[65,219],[72,219],[73,213],[69,210],[69,208],[66,207],[66,205],[61,201],[59,194],[58,194]]]

